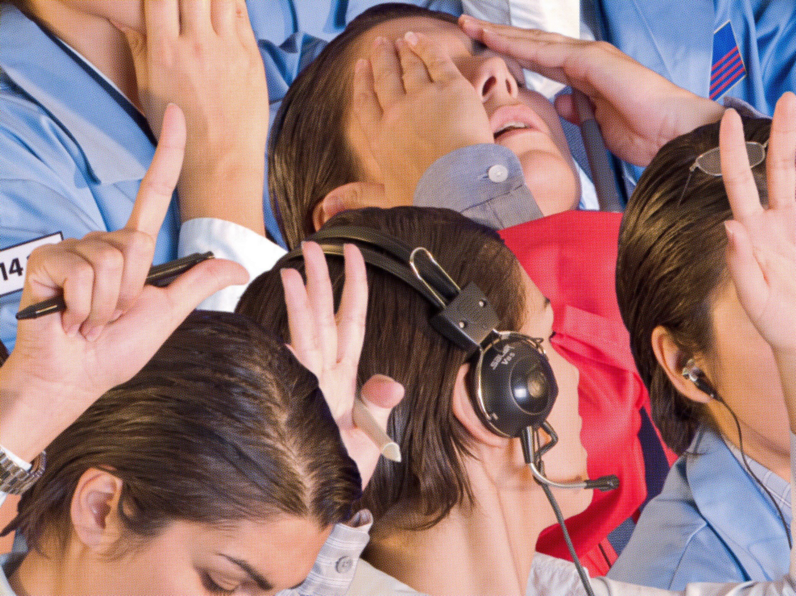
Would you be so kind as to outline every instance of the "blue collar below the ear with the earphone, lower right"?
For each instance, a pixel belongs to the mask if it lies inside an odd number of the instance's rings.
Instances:
[[[769,579],[788,572],[785,528],[771,499],[712,430],[698,432],[685,455],[685,476],[700,514],[742,567],[758,566]],[[771,574],[771,570],[780,573]]]

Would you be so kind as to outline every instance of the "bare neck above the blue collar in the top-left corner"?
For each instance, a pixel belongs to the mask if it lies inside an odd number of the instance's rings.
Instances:
[[[75,10],[58,0],[33,0],[29,11],[88,60],[140,109],[135,64],[122,33],[107,18]]]

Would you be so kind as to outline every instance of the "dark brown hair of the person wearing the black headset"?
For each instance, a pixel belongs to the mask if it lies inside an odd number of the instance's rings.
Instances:
[[[455,211],[419,207],[345,211],[324,229],[338,225],[370,227],[408,246],[425,246],[460,286],[473,282],[482,289],[503,329],[517,331],[524,323],[520,265],[493,230]],[[339,257],[328,257],[328,261],[339,300],[342,262]],[[301,266],[301,259],[283,258],[249,285],[238,312],[287,335],[279,269]],[[403,461],[380,460],[365,490],[365,505],[377,522],[427,528],[472,497],[460,460],[462,453],[468,453],[470,435],[451,412],[456,375],[466,354],[429,325],[435,309],[416,290],[370,265],[368,282],[359,380],[386,374],[404,385],[406,397],[388,421],[388,432],[399,443]]]

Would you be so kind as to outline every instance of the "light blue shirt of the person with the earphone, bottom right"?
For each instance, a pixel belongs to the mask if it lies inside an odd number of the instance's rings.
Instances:
[[[790,486],[756,473],[775,493]],[[790,524],[790,502],[782,505]],[[646,505],[608,577],[682,590],[689,582],[778,579],[789,567],[786,529],[771,499],[724,439],[704,430]]]

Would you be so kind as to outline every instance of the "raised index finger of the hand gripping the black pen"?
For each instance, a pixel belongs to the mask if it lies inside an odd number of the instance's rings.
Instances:
[[[125,228],[157,238],[169,210],[185,155],[185,116],[173,103],[166,107],[163,126],[150,168],[139,186]]]

